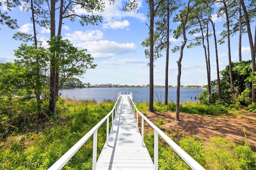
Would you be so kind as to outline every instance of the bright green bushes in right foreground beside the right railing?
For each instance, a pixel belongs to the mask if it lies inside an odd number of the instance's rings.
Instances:
[[[154,135],[144,136],[144,142],[154,158]],[[175,141],[183,150],[207,170],[252,170],[256,169],[256,153],[248,146],[234,145],[222,137],[213,137],[207,146],[195,136],[184,136]],[[185,170],[188,165],[164,141],[159,142],[159,170]]]

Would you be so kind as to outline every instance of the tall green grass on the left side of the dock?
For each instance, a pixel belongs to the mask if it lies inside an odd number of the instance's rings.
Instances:
[[[41,125],[44,130],[9,137],[0,148],[0,169],[45,170],[80,140],[114,106],[114,102],[60,100],[58,121]],[[110,119],[111,120],[111,119]],[[106,124],[106,123],[105,123]],[[106,125],[98,129],[98,156],[106,141]],[[63,169],[92,169],[92,137]]]

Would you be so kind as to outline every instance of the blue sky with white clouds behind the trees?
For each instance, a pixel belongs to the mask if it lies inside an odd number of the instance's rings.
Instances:
[[[148,4],[139,0],[139,10],[136,13],[123,12],[122,5],[124,1],[116,1],[114,5],[105,4],[105,11],[100,13],[103,17],[102,23],[98,25],[80,25],[79,20],[74,22],[64,20],[62,25],[62,37],[69,39],[78,49],[87,49],[88,53],[94,57],[94,64],[98,66],[95,69],[87,70],[84,78],[79,78],[84,83],[91,84],[130,84],[142,85],[149,84],[149,62],[144,55],[145,48],[141,42],[148,37],[149,19],[147,18]],[[47,7],[47,6],[46,6]],[[0,7],[1,11],[5,7]],[[219,6],[216,6],[218,9]],[[77,8],[77,14],[84,14],[84,11]],[[30,22],[30,12],[23,12],[22,8],[15,8],[8,12],[12,18],[18,20],[19,29],[12,30],[5,25],[0,25],[0,62],[13,62],[15,59],[14,50],[22,43],[12,39],[17,31],[32,33],[32,23]],[[97,14],[97,13],[95,13]],[[216,23],[217,38],[220,39],[220,32],[225,29],[222,25],[225,18],[212,16]],[[176,29],[178,23],[171,23],[172,29]],[[255,23],[251,24],[254,35]],[[38,39],[43,41],[44,47],[47,47],[46,41],[50,37],[50,30],[37,26]],[[172,35],[172,33],[171,33]],[[172,49],[175,45],[181,45],[181,40],[170,39]],[[188,44],[187,44],[188,45]],[[214,51],[214,39],[210,39],[210,62],[211,62],[211,80],[216,79],[216,59]],[[231,37],[231,56],[232,61],[238,61],[238,37]],[[170,52],[169,56],[169,81],[168,84],[176,86],[178,61],[180,53]],[[220,70],[228,65],[227,44],[218,44],[218,55]],[[164,55],[165,56],[165,55]],[[250,48],[248,36],[242,37],[242,60],[249,60]],[[165,83],[165,57],[159,58],[154,63],[154,84],[164,85]],[[182,59],[181,84],[186,85],[204,85],[207,84],[206,65],[203,47],[195,47],[184,50]]]

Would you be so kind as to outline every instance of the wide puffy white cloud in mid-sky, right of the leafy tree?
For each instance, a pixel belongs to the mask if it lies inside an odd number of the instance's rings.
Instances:
[[[106,56],[112,57],[113,55],[121,55],[124,53],[130,53],[136,51],[136,45],[134,43],[116,43],[114,41],[87,41],[84,43],[76,44],[77,47],[82,47],[93,53],[101,53],[99,58],[106,58]]]

